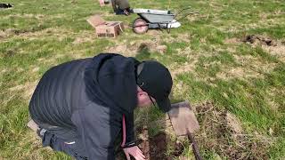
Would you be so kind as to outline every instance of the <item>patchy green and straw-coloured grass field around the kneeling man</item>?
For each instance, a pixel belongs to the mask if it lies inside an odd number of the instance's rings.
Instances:
[[[116,16],[95,0],[4,0],[0,10],[0,159],[70,159],[41,148],[28,123],[28,102],[48,68],[68,60],[119,52],[159,60],[174,77],[173,100],[189,100],[201,129],[205,159],[285,158],[285,3],[282,0],[178,0],[170,10],[191,6],[199,14],[182,27],[116,39],[98,39],[86,22],[93,14],[131,24],[137,15]],[[132,0],[134,8],[167,9],[166,0]],[[150,136],[166,131],[156,108],[136,113],[151,122]],[[183,155],[193,158],[183,141]],[[169,147],[167,154],[171,154]]]

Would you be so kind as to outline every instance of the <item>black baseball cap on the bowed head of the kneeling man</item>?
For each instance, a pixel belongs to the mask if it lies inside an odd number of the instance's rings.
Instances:
[[[167,112],[171,108],[168,98],[172,88],[169,70],[155,60],[142,61],[137,67],[137,85],[153,97],[159,108]]]

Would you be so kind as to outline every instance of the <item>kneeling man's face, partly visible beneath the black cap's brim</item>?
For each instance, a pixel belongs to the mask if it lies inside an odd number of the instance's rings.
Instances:
[[[146,108],[146,107],[151,107],[152,102],[155,102],[155,100],[149,96],[147,92],[142,91],[140,87],[137,87],[137,106],[140,108]]]

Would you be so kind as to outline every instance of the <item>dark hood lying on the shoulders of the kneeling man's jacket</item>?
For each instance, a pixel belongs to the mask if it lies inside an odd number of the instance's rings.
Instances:
[[[87,97],[107,108],[130,113],[137,106],[136,66],[140,62],[114,53],[101,53],[85,68]]]

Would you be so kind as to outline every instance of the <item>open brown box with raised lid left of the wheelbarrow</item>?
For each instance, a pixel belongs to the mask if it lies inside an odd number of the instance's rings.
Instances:
[[[98,37],[117,37],[124,29],[121,21],[105,21],[99,15],[94,15],[87,21],[95,28]]]

